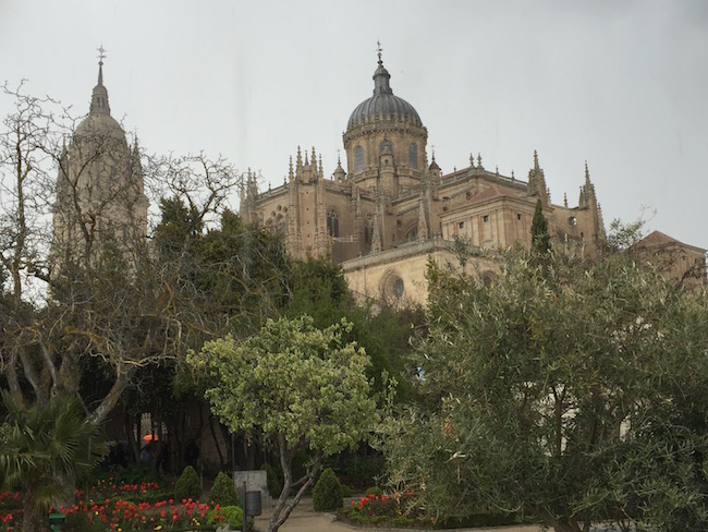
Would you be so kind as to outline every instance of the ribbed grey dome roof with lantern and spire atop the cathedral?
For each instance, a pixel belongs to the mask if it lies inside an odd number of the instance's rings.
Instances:
[[[391,74],[383,68],[379,50],[379,65],[374,72],[374,95],[362,101],[352,112],[346,129],[375,120],[412,122],[423,128],[423,122],[414,107],[393,94],[389,80]]]

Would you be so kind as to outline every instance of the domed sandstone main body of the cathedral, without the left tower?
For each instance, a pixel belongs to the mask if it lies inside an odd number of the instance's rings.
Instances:
[[[282,231],[292,256],[341,263],[361,299],[424,301],[428,256],[456,264],[455,245],[468,246],[469,266],[493,276],[484,251],[529,247],[538,201],[557,247],[597,253],[605,226],[587,165],[573,207],[551,203],[536,153],[525,181],[486,169],[479,155],[443,173],[435,153],[428,159],[420,116],[390,82],[379,50],[373,95],[354,108],[343,134],[346,170],[338,161],[326,176],[321,156],[298,148],[282,186],[258,192],[248,177],[244,219]]]

